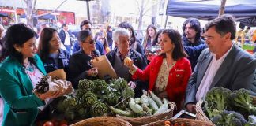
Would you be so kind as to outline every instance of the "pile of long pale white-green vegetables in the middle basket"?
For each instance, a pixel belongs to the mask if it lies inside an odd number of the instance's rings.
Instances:
[[[163,98],[162,102],[151,91],[149,91],[149,95],[145,91],[141,98],[129,98],[125,108],[118,109],[111,106],[110,109],[113,113],[125,117],[151,116],[165,113],[168,110],[168,101]]]

